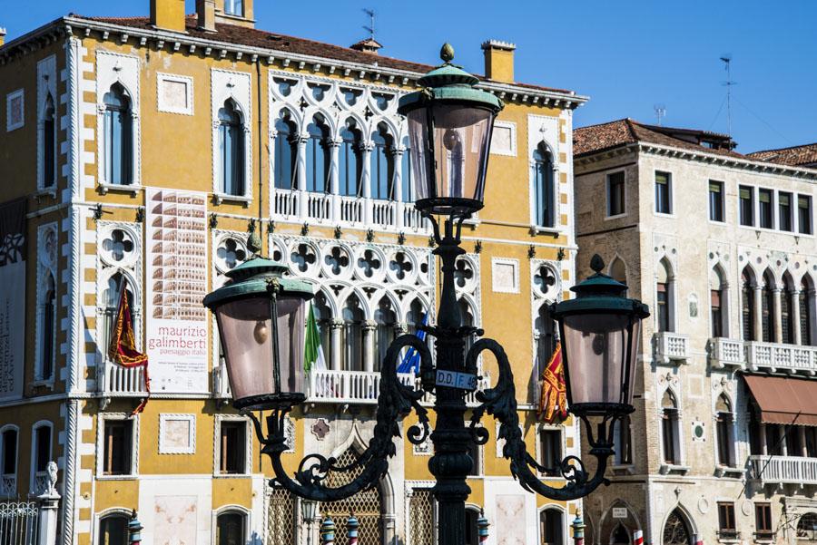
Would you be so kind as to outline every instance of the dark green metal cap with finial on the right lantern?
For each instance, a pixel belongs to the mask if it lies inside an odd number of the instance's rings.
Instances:
[[[642,319],[650,316],[649,307],[644,303],[638,299],[625,297],[626,284],[602,272],[605,261],[601,256],[596,254],[590,259],[590,268],[596,274],[570,288],[570,291],[576,294],[576,298],[561,301],[551,307],[555,318],[591,312],[632,312]]]

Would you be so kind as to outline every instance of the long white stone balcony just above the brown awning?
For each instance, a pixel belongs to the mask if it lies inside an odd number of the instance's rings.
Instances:
[[[817,346],[762,343],[716,337],[709,341],[709,357],[715,367],[748,367],[753,371],[817,373]]]

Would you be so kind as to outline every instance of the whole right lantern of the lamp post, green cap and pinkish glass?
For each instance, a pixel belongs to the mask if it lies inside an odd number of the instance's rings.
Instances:
[[[570,288],[576,298],[551,306],[565,358],[567,406],[574,414],[630,413],[641,321],[649,309],[601,272],[598,255],[590,267],[596,274]]]

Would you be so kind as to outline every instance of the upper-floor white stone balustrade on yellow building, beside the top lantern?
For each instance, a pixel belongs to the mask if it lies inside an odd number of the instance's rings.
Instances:
[[[301,190],[275,190],[273,219],[328,227],[430,233],[413,202],[348,197]]]

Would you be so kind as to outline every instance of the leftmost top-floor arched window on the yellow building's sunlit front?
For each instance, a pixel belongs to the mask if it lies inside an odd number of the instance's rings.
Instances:
[[[133,114],[124,87],[114,83],[103,97],[105,181],[129,185],[133,180]]]

